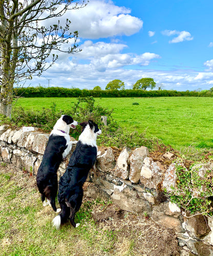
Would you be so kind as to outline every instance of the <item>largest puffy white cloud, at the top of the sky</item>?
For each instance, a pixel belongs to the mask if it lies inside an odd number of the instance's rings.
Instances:
[[[70,30],[77,30],[80,38],[99,39],[132,35],[142,28],[143,21],[130,13],[130,9],[116,6],[112,1],[90,0],[86,7],[68,10],[60,18],[60,22],[71,20]],[[45,21],[45,25],[51,25],[52,21]],[[57,21],[56,17],[55,22]]]

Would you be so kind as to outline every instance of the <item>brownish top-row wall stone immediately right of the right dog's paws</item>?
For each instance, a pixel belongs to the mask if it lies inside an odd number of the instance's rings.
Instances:
[[[97,168],[101,172],[112,172],[115,167],[115,157],[112,148],[108,148],[102,155],[97,157]]]

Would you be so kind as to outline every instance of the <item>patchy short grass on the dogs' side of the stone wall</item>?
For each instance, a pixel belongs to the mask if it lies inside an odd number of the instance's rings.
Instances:
[[[67,224],[56,230],[52,227],[56,213],[50,207],[42,207],[35,176],[1,167],[0,184],[0,255],[155,256],[171,255],[177,246],[174,234],[171,236],[167,229],[133,213],[125,214],[123,220],[105,218],[96,223],[93,212],[102,214],[113,206],[98,199],[84,198],[76,216],[78,228]],[[167,240],[165,244],[160,241],[162,233],[173,237],[174,245],[169,245],[168,254],[159,254],[167,246]]]

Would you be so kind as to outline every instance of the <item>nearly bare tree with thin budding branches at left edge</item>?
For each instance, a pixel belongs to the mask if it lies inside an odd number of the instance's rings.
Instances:
[[[78,32],[69,31],[69,20],[62,25],[59,21],[67,10],[86,5],[73,2],[0,0],[0,114],[11,116],[15,82],[40,76],[56,61],[57,51],[79,51],[76,45]],[[42,25],[49,19],[57,20],[56,24]],[[63,50],[61,46],[65,43],[70,46]]]

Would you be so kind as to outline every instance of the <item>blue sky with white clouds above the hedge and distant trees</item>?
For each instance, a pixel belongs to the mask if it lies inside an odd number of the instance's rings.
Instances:
[[[130,89],[148,77],[167,90],[209,89],[212,12],[212,0],[90,0],[60,18],[69,18],[71,31],[78,31],[81,51],[59,54],[51,68],[25,86],[105,89],[119,79]]]

